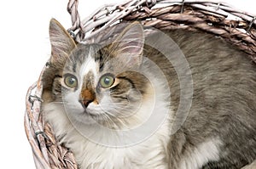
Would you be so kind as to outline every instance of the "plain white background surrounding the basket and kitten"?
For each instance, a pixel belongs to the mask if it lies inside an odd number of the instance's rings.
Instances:
[[[103,4],[118,0],[79,2],[79,13],[83,19]],[[253,0],[226,2],[256,14]],[[1,168],[35,168],[23,125],[26,90],[37,81],[49,59],[49,20],[55,18],[65,28],[71,26],[66,8],[67,0],[9,0],[1,3]]]

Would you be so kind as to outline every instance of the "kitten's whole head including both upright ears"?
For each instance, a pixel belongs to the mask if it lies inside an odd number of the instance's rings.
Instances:
[[[150,82],[139,72],[143,27],[129,25],[111,44],[76,44],[51,20],[49,68],[43,76],[51,102],[63,104],[73,121],[112,128],[141,121]]]

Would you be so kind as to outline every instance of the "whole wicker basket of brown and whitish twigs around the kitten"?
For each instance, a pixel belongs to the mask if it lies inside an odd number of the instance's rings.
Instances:
[[[87,42],[94,35],[120,22],[139,20],[145,26],[154,26],[160,30],[207,31],[236,45],[256,62],[256,16],[226,3],[201,0],[125,0],[99,8],[80,21],[78,1],[69,0],[67,11],[73,22],[68,31],[77,42]],[[45,69],[46,66],[42,73]],[[49,124],[44,124],[40,113],[43,101],[40,77],[38,82],[28,88],[26,94],[25,129],[35,164],[37,168],[78,168],[73,154],[58,144]]]

